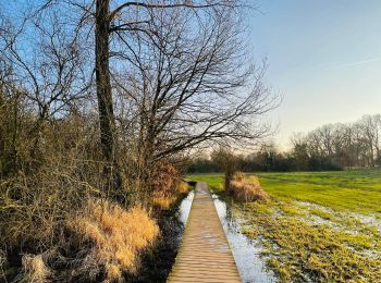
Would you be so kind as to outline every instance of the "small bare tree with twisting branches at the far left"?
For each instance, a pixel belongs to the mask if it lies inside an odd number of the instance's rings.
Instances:
[[[57,11],[45,12],[25,16],[21,23],[9,19],[0,33],[0,52],[13,67],[13,87],[37,114],[29,132],[35,137],[32,156],[36,155],[44,124],[86,98],[88,88],[75,35],[67,33]]]

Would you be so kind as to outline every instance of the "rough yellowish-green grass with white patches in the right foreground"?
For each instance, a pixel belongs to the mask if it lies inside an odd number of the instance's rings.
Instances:
[[[272,199],[236,207],[282,282],[380,282],[381,234],[323,209]],[[344,217],[345,218],[345,217]],[[351,222],[349,222],[351,223]]]

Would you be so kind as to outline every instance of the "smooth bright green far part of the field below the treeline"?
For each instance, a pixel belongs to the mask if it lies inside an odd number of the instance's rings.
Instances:
[[[381,217],[381,170],[258,173],[266,192],[285,200],[310,201],[334,210]],[[220,189],[222,174],[189,175]]]

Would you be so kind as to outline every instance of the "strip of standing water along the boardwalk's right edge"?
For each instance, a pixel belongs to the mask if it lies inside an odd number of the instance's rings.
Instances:
[[[241,230],[239,220],[231,217],[226,204],[213,195],[214,206],[233,251],[239,275],[244,282],[275,282],[272,272],[266,270],[265,260],[260,258],[262,249],[255,239],[247,238]]]

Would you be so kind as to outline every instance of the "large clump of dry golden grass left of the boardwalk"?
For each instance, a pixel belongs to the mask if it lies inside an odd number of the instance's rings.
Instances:
[[[90,200],[86,211],[71,220],[69,226],[93,243],[82,270],[96,273],[98,268],[99,273],[103,269],[109,281],[120,281],[123,272],[136,271],[139,253],[159,234],[158,225],[145,210],[125,210],[99,200]]]

